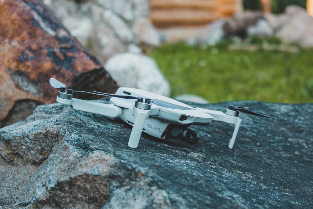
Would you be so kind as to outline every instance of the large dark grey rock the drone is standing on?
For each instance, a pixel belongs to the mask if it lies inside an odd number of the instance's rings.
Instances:
[[[101,102],[108,102],[101,100]],[[310,208],[312,104],[223,102],[277,116],[240,114],[233,126],[192,126],[195,145],[142,134],[61,104],[38,106],[25,121],[0,129],[2,208]]]

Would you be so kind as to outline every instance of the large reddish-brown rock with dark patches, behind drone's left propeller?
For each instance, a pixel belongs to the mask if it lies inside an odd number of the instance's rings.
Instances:
[[[115,81],[40,0],[0,1],[0,127],[55,102],[55,77],[73,88],[114,92]]]

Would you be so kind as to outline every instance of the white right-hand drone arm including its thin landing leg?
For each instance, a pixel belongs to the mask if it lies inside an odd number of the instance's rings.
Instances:
[[[205,112],[205,113],[212,115],[214,117],[213,121],[219,121],[219,122],[224,122],[224,123],[229,123],[229,124],[235,125],[235,129],[233,131],[233,136],[229,140],[229,144],[228,144],[228,148],[233,149],[233,145],[235,143],[235,140],[236,140],[236,137],[238,134],[240,123],[242,121],[241,118],[239,118],[238,116],[236,117],[236,116],[226,115],[222,111],[208,110],[208,109],[204,109],[204,108],[200,108],[200,107],[196,107],[196,110],[200,110],[202,112]]]

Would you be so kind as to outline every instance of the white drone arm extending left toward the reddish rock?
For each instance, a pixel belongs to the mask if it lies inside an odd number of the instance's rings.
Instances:
[[[70,105],[74,110],[91,112],[111,118],[119,118],[123,113],[122,108],[117,107],[114,104],[103,104],[100,102],[92,102],[76,98],[63,99],[60,97],[57,97],[57,102]]]

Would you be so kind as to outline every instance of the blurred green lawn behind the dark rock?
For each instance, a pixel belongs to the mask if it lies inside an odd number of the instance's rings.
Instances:
[[[179,43],[149,56],[169,80],[172,97],[190,93],[210,102],[313,102],[313,49],[246,51]]]

